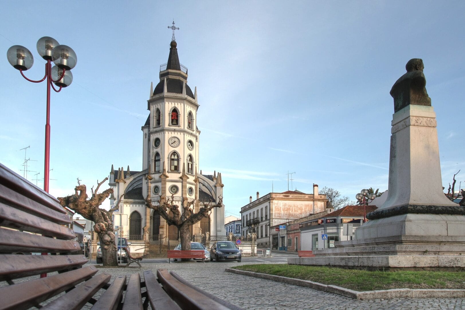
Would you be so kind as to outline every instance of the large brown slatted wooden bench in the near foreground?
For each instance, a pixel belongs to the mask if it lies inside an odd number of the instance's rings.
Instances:
[[[96,275],[94,266],[82,267],[84,255],[72,255],[82,252],[64,226],[70,223],[58,200],[0,164],[0,310],[69,310],[87,303],[93,310],[142,310],[149,303],[154,310],[240,309],[167,270],[156,276],[147,270],[143,280],[139,273],[116,276],[109,283],[110,274]],[[12,254],[19,252],[52,255]],[[96,294],[100,289],[105,291]]]

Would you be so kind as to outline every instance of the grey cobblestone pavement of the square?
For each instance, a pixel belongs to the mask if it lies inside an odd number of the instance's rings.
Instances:
[[[395,298],[354,300],[316,289],[241,276],[226,272],[226,268],[245,263],[188,262],[146,263],[142,268],[100,268],[114,276],[130,275],[145,270],[173,270],[188,282],[219,296],[243,309],[464,309],[465,298]],[[142,276],[143,278],[143,276]]]

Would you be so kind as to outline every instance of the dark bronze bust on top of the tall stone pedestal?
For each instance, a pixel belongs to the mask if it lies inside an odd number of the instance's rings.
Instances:
[[[431,98],[426,92],[426,79],[423,74],[423,60],[413,58],[407,62],[407,73],[394,83],[391,96],[394,98],[394,113],[409,104],[431,106]]]

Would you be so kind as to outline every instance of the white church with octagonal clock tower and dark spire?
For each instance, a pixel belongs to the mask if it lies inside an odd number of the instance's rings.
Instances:
[[[160,66],[159,83],[154,89],[152,84],[147,101],[150,114],[142,126],[142,171],[130,171],[129,166],[115,170],[112,165],[110,172],[110,203],[116,204],[124,194],[117,213],[126,214],[122,216],[127,217],[122,235],[130,240],[166,243],[179,239],[176,227],[167,226],[157,212],[145,206],[148,182],[154,204],[160,198],[173,197],[178,205],[196,199],[198,211],[203,201],[214,204],[223,196],[221,173],[203,175],[199,170],[197,89],[192,92],[187,85],[187,68],[179,63],[176,41],[170,46],[168,62]],[[209,218],[193,225],[191,232],[196,240],[226,235],[224,210],[224,205],[213,208]]]

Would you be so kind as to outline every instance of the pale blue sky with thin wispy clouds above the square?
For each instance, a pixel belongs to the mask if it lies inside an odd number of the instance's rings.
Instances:
[[[389,91],[411,58],[425,63],[443,186],[459,169],[465,183],[463,1],[0,3],[0,162],[22,175],[20,149],[30,145],[29,180],[43,178],[46,86],[24,80],[6,51],[31,50],[32,79],[44,74],[40,37],[78,56],[73,84],[51,98],[55,196],[73,193],[78,177],[92,187],[112,164],[141,169],[140,127],[173,18],[179,60],[198,90],[199,168],[222,172],[226,215],[257,191],[286,191],[287,172],[306,193],[313,183],[352,200],[365,187],[387,189]]]

